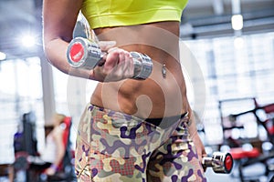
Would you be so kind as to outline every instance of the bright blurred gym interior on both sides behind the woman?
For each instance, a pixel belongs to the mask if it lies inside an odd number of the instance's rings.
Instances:
[[[97,83],[48,64],[41,11],[42,0],[0,0],[0,182],[76,181],[77,126]],[[180,36],[198,134],[213,161],[229,154],[208,181],[274,181],[274,0],[190,0]],[[55,112],[68,117],[66,152],[50,179],[27,158],[45,148]]]

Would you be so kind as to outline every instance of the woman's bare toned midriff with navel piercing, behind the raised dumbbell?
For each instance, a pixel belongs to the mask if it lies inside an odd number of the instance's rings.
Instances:
[[[114,40],[127,51],[150,56],[153,73],[146,80],[99,83],[90,98],[92,105],[142,118],[177,116],[188,110],[179,60],[178,22],[100,28],[94,32],[100,40]]]

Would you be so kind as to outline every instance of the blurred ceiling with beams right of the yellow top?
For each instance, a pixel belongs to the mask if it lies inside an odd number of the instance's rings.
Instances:
[[[183,14],[182,37],[234,35],[231,15],[237,13],[244,19],[242,34],[274,31],[274,0],[189,0]]]

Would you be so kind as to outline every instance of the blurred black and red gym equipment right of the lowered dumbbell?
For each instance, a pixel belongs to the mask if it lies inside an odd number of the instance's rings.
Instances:
[[[247,105],[251,108],[242,110],[245,108],[245,101],[248,101],[249,104]],[[224,112],[223,107],[227,102],[242,103],[239,105],[240,108],[238,108],[240,111],[237,112],[234,110],[233,113],[227,116],[227,112]],[[227,144],[230,147],[229,153],[236,161],[240,180],[246,181],[247,179],[252,178],[245,175],[244,168],[258,163],[263,164],[265,167],[264,174],[261,174],[260,176],[267,177],[269,172],[274,171],[274,104],[260,106],[258,105],[256,98],[252,97],[223,100],[219,102],[219,108],[224,131],[225,145]],[[242,119],[239,119],[239,117]],[[240,122],[240,120],[244,121]],[[249,133],[253,132],[257,135],[245,137],[242,134],[245,129],[247,130],[246,127],[248,127],[248,122],[250,124],[251,121],[257,125],[257,129],[249,129]],[[264,128],[267,134],[267,137],[264,140],[259,137],[260,132],[258,129],[260,127]],[[239,130],[238,138],[234,138],[232,136],[233,129]],[[263,144],[266,143],[269,144],[268,151],[263,149]]]

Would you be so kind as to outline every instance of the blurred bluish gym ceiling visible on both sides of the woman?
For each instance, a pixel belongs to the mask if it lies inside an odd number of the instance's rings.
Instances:
[[[189,0],[182,16],[182,37],[233,35],[233,5],[239,5],[244,17],[243,34],[274,31],[274,0],[238,1]],[[0,51],[10,56],[37,54],[24,50],[18,38],[28,32],[41,40],[41,7],[42,0],[0,0]]]

